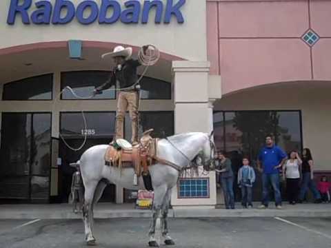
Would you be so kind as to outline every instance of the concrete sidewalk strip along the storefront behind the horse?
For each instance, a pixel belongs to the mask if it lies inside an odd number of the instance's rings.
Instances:
[[[254,203],[259,206],[259,203]],[[222,206],[221,206],[222,207]],[[131,204],[99,203],[94,209],[94,218],[150,218],[151,211],[134,209]],[[170,209],[169,217],[331,217],[331,204],[283,205],[283,209]],[[48,205],[0,205],[0,219],[77,219],[81,214],[72,213],[68,204]]]

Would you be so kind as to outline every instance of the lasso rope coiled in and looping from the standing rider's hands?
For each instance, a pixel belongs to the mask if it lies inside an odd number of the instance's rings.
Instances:
[[[141,63],[141,65],[145,65],[146,68],[143,70],[143,73],[141,74],[141,76],[139,77],[139,79],[137,80],[136,83],[134,83],[133,85],[131,85],[130,87],[124,87],[124,88],[112,88],[112,89],[108,89],[108,90],[112,90],[112,91],[120,91],[120,90],[132,90],[136,87],[137,84],[139,84],[139,82],[141,81],[141,79],[143,78],[143,76],[145,76],[148,68],[150,67],[150,65],[154,65],[155,63],[157,63],[157,61],[159,61],[160,59],[160,52],[159,50],[154,46],[154,45],[147,45],[148,48],[152,48],[152,49],[148,49],[146,51],[148,51],[148,54],[144,54],[143,52],[143,48],[141,48],[138,52],[138,61],[139,63]],[[103,56],[102,56],[103,57]],[[94,98],[94,94],[91,94],[90,96],[79,96],[77,95],[74,90],[72,90],[72,87],[67,86],[65,87],[63,90],[61,90],[61,92],[59,93],[59,98],[61,96],[61,94],[63,94],[64,90],[68,89],[72,95],[74,97],[76,97],[77,99],[82,99],[82,100],[88,100],[88,99],[92,99]],[[140,99],[140,91],[139,91],[139,99]],[[84,141],[83,143],[78,147],[78,148],[74,148],[71,147],[66,140],[63,138],[61,132],[59,132],[59,136],[61,138],[61,140],[63,141],[63,143],[72,151],[74,152],[78,152],[79,150],[81,150],[84,145],[86,145],[86,141],[88,140],[88,134],[86,132],[86,130],[88,130],[88,125],[86,123],[86,116],[83,112],[83,110],[81,110],[81,115],[83,116],[83,123],[84,123]],[[60,130],[61,131],[61,130]]]

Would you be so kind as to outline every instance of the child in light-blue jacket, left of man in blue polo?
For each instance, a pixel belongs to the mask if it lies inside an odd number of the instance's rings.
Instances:
[[[238,185],[241,187],[241,205],[252,208],[252,187],[255,181],[254,169],[250,166],[248,158],[243,158],[243,166],[238,172]]]

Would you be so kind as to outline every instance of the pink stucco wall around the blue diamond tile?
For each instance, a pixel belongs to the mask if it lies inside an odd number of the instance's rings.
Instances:
[[[223,94],[283,81],[331,81],[331,1],[207,5],[210,73],[221,74]],[[309,29],[321,37],[312,47],[301,40]]]

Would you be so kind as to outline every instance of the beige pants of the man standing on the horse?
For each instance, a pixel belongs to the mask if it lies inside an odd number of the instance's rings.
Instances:
[[[117,100],[117,114],[116,114],[116,136],[123,138],[123,123],[126,116],[126,111],[129,111],[132,125],[131,142],[138,141],[138,105],[139,98],[137,92],[119,92]]]

